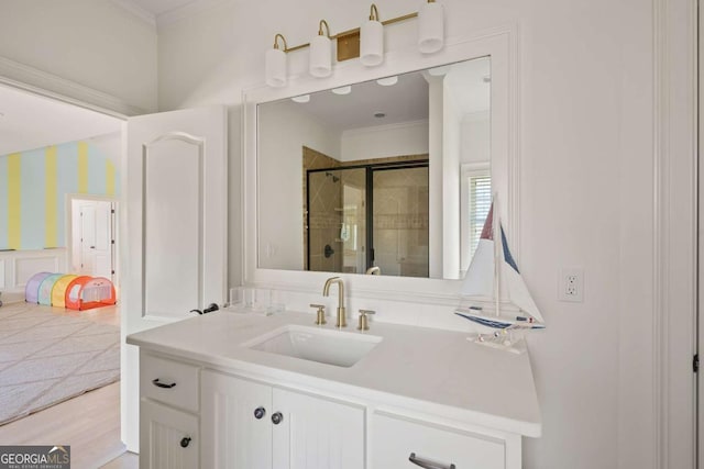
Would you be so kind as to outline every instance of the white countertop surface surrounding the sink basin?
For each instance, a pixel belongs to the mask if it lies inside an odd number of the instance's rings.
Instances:
[[[364,334],[383,340],[350,368],[240,346],[288,324],[312,326],[314,319],[292,312],[272,316],[215,312],[132,334],[127,343],[206,365],[309,383],[341,395],[369,397],[371,392],[376,400],[396,405],[540,436],[528,353],[474,344],[465,333],[374,322]],[[343,331],[361,334],[355,326],[356,321]],[[322,327],[334,330],[330,322]]]

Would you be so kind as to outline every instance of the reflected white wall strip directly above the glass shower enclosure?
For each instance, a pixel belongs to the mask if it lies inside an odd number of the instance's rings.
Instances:
[[[426,155],[428,121],[403,122],[342,132],[342,161]]]

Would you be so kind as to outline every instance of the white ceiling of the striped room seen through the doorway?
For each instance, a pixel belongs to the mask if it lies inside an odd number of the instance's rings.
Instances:
[[[120,132],[122,121],[0,85],[0,155]]]

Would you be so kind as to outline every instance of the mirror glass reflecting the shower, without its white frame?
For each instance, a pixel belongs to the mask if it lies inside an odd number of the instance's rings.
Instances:
[[[491,203],[490,74],[482,57],[260,103],[258,267],[462,278]]]

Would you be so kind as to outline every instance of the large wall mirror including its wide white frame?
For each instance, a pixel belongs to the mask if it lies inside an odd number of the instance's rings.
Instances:
[[[496,34],[245,93],[245,281],[457,291],[492,194],[515,225],[509,52]]]

